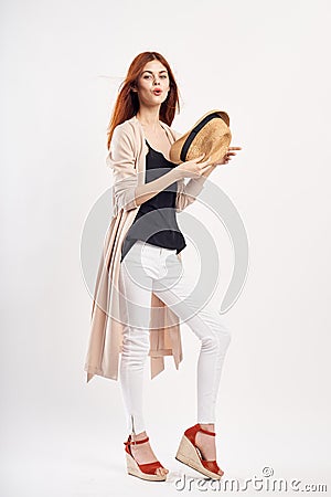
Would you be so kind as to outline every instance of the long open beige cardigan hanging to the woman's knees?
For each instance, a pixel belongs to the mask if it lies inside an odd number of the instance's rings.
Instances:
[[[160,121],[170,142],[181,135]],[[143,129],[136,116],[116,126],[106,163],[113,170],[114,214],[105,236],[92,307],[90,335],[84,371],[87,382],[95,376],[118,380],[119,353],[122,351],[122,330],[118,290],[121,244],[134,222],[137,207],[135,190],[145,182],[148,147]],[[205,177],[192,178],[185,184],[178,180],[177,212],[190,205],[203,189]],[[178,254],[180,258],[181,254]],[[164,356],[173,356],[175,368],[182,361],[181,332],[178,316],[151,293],[150,314],[151,378],[164,369]]]

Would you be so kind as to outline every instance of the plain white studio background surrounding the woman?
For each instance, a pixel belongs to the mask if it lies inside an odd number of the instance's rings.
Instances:
[[[213,173],[250,260],[226,315],[220,466],[241,482],[270,466],[274,478],[330,491],[330,12],[321,0],[2,2],[1,497],[169,495],[175,477],[196,476],[174,459],[195,423],[199,342],[188,327],[180,370],[166,358],[146,383],[166,484],[126,474],[119,383],[87,384],[83,371],[92,300],[81,236],[110,184],[117,89],[149,50],[180,87],[173,127],[221,108],[243,147]]]

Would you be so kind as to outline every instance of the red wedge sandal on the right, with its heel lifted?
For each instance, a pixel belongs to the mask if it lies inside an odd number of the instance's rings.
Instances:
[[[215,432],[204,430],[200,423],[194,424],[194,426],[185,430],[175,458],[210,478],[220,479],[224,475],[224,472],[220,468],[216,461],[206,461],[195,445],[195,435],[197,432],[206,433],[212,436],[216,435]]]

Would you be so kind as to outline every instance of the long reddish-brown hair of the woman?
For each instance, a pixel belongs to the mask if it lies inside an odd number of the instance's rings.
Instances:
[[[142,52],[137,55],[131,62],[128,73],[126,75],[125,81],[120,86],[122,88],[119,91],[117,96],[115,107],[111,114],[110,123],[108,125],[108,139],[107,147],[108,150],[110,148],[111,136],[114,133],[114,128],[124,123],[127,119],[134,117],[139,110],[139,99],[137,92],[132,92],[132,87],[137,87],[138,77],[141,74],[145,65],[153,60],[158,60],[168,71],[170,91],[168,92],[168,96],[166,101],[161,104],[160,108],[160,120],[166,123],[168,126],[171,126],[175,110],[180,112],[180,103],[179,103],[179,91],[173,76],[173,73],[170,68],[170,65],[166,61],[166,59],[158,52]]]

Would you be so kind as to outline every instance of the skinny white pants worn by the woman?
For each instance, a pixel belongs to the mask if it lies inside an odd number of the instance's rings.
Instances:
[[[217,309],[209,308],[185,276],[175,250],[137,241],[119,269],[119,290],[125,295],[126,326],[120,358],[120,384],[127,415],[127,430],[146,430],[142,412],[145,363],[150,349],[151,290],[171,307],[201,340],[197,360],[197,420],[215,423],[221,372],[231,335]]]

